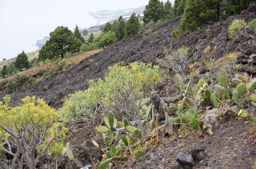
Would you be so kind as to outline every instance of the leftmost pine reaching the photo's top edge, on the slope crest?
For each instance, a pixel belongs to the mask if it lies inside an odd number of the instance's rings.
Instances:
[[[143,11],[143,22],[149,23],[151,20],[154,21],[154,23],[157,22],[157,20],[164,19],[164,5],[163,1],[160,3],[159,0],[149,0],[148,5],[146,5],[145,10]]]

